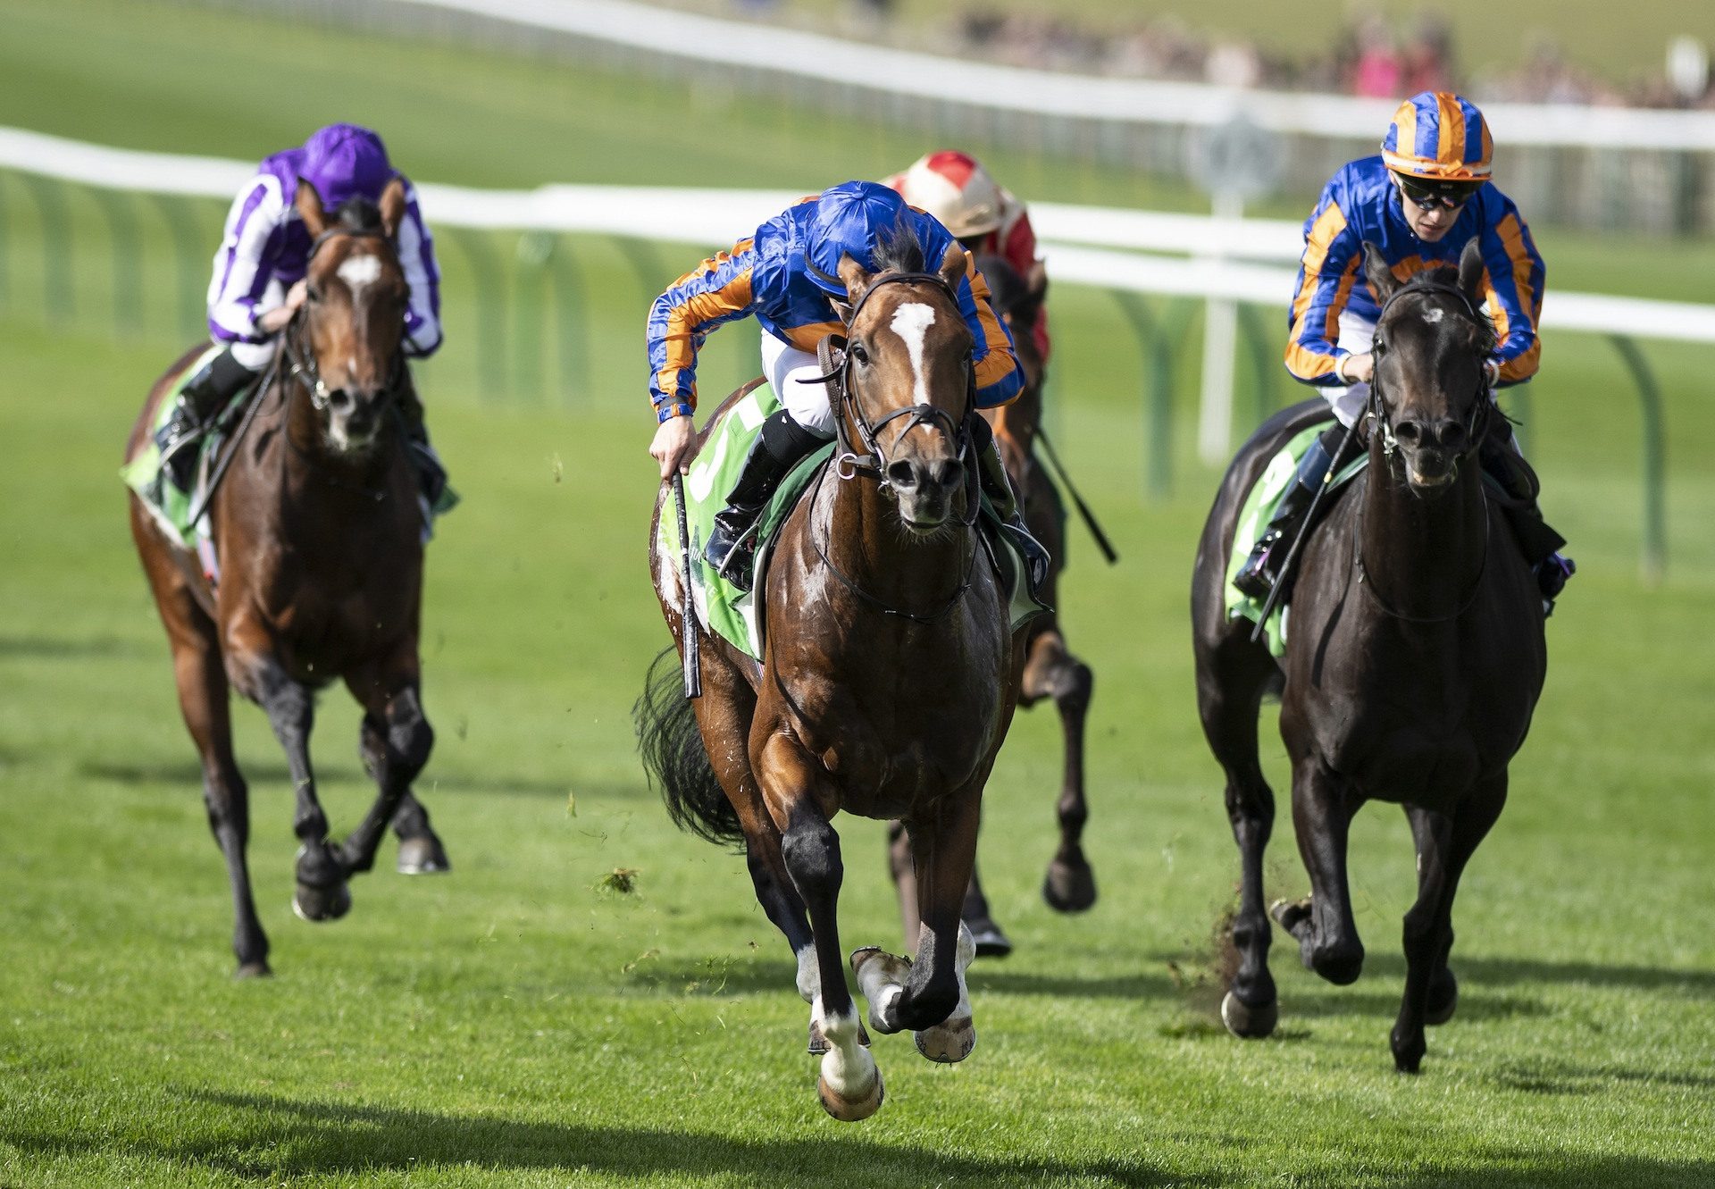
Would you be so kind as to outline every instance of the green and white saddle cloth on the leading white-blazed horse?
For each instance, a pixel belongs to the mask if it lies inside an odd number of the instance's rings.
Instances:
[[[761,592],[767,587],[768,559],[773,552],[775,537],[780,525],[792,515],[792,508],[815,482],[816,474],[833,456],[835,443],[821,446],[806,456],[775,489],[773,498],[756,527],[756,564],[753,590],[739,590],[731,582],[715,573],[715,568],[703,558],[703,546],[713,530],[715,515],[725,508],[727,494],[737,486],[739,472],[749,456],[761,424],[780,408],[780,401],[770,384],[751,389],[715,424],[708,441],[703,443],[696,462],[684,475],[684,523],[691,535],[691,595],[696,604],[696,616],[703,626],[744,652],[744,655],[761,661]],[[988,515],[988,499],[983,501]],[[998,534],[988,534],[996,539]],[[679,522],[672,503],[662,510],[657,528],[655,549],[660,558],[671,561],[677,571],[683,568],[684,552],[679,546]],[[1022,580],[1024,563],[1008,546],[1002,551],[1002,576],[1012,592],[1012,626],[1017,630],[1027,619],[1046,611],[1029,597],[1029,587]],[[679,575],[684,580],[684,575]]]

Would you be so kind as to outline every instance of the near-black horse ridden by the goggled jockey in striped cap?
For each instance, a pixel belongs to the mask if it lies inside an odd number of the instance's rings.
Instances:
[[[1281,693],[1291,806],[1310,897],[1274,920],[1309,969],[1353,981],[1363,944],[1346,887],[1346,832],[1367,801],[1405,808],[1417,848],[1417,902],[1405,914],[1406,980],[1391,1047],[1417,1072],[1423,1026],[1451,1019],[1453,897],[1501,815],[1507,765],[1525,741],[1547,671],[1544,611],[1477,451],[1499,427],[1483,376],[1494,329],[1478,312],[1475,240],[1458,269],[1401,285],[1369,247],[1381,317],[1370,381],[1369,468],[1305,542],[1279,662],[1223,607],[1226,558],[1245,492],[1276,450],[1326,417],[1324,401],[1285,410],[1238,451],[1202,534],[1192,580],[1197,709],[1226,770],[1226,813],[1242,860],[1231,940],[1238,968],[1221,1016],[1266,1036],[1278,1007],[1267,968],[1262,849],[1274,798],[1257,763],[1257,710]]]

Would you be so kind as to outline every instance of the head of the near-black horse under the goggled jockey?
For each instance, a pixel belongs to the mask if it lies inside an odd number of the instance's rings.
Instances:
[[[1365,278],[1381,304],[1370,432],[1387,458],[1405,458],[1411,491],[1429,494],[1453,484],[1494,408],[1483,362],[1495,333],[1478,311],[1483,256],[1473,238],[1458,269],[1425,269],[1401,285],[1375,245],[1365,247]]]

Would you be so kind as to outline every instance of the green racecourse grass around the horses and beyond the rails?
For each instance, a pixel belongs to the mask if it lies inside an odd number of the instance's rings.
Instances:
[[[249,77],[264,46],[314,62],[295,88],[232,89],[204,69],[221,38]],[[161,67],[170,51],[184,70]],[[430,91],[460,105],[427,108]],[[777,117],[780,139],[751,177],[746,158],[708,148],[761,129],[744,124],[751,108],[724,108],[693,136],[672,93],[641,91],[153,3],[21,0],[0,14],[3,122],[106,142],[254,156],[353,112],[382,124],[413,173],[489,185],[693,180],[672,146],[705,153],[695,180],[731,184],[914,154],[878,137],[866,156]],[[518,137],[494,134],[514,118]],[[844,166],[858,158],[863,170]],[[674,177],[652,177],[652,160]],[[1072,192],[1082,182],[1058,184],[1058,197],[1086,197]],[[1386,806],[1360,815],[1353,837],[1365,978],[1327,987],[1278,945],[1276,1038],[1238,1043],[1213,1016],[1209,939],[1237,854],[1187,640],[1188,568],[1216,482],[1192,448],[1197,328],[1176,360],[1171,492],[1147,501],[1139,350],[1108,295],[1056,288],[1056,443],[1123,558],[1099,566],[1074,528],[1063,613],[1098,671],[1087,841],[1103,899],[1068,920],[1038,897],[1058,724],[1024,714],[990,788],[983,858],[1019,951],[972,973],[978,1050],[935,1067],[876,1038],[888,1101],[842,1127],[815,1103],[792,964],[743,863],[676,834],[633,753],[629,703],[665,643],[643,563],[653,479],[638,331],[664,280],[650,276],[677,266],[674,250],[633,264],[616,244],[564,238],[585,293],[578,367],[549,383],[544,360],[559,357],[539,353],[542,383],[509,383],[520,395],[499,401],[480,396],[489,365],[528,376],[528,352],[511,331],[482,353],[492,309],[444,242],[448,347],[418,374],[465,504],[429,556],[425,703],[439,741],[418,791],[454,873],[393,875],[388,846],[346,920],[297,921],[290,782],[261,712],[240,707],[278,976],[235,985],[225,872],[115,477],[135,405],[178,343],[178,261],[146,208],[141,317],[115,341],[111,252],[91,199],[72,197],[58,312],[22,184],[0,178],[0,1186],[1715,1179],[1706,350],[1650,348],[1667,395],[1669,571],[1646,587],[1631,379],[1600,340],[1547,336],[1528,444],[1581,568],[1549,625],[1549,686],[1511,803],[1463,885],[1459,1017],[1430,1035],[1423,1076],[1405,1079],[1387,1028],[1413,877],[1408,832]],[[218,214],[194,208],[199,226]],[[487,245],[516,259],[509,237]],[[1698,297],[1715,249],[1544,237],[1544,250],[1568,288]],[[552,341],[554,326],[540,335]],[[710,347],[710,388],[751,367],[751,331]],[[1240,408],[1252,408],[1240,371]],[[1273,384],[1273,400],[1288,395]],[[314,748],[340,829],[370,796],[355,727],[355,707],[329,691]],[[1271,721],[1264,755],[1283,789]],[[880,829],[840,829],[844,935],[890,945]],[[633,894],[602,887],[614,868],[640,873]],[[1285,815],[1267,882],[1305,890]]]

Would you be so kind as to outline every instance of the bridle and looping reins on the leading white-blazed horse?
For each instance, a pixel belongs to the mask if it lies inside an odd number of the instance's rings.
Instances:
[[[938,273],[887,273],[871,281],[870,288],[863,292],[863,295],[858,299],[858,304],[852,305],[851,314],[845,316],[845,326],[851,326],[852,323],[858,321],[858,314],[859,311],[863,311],[864,304],[885,285],[935,285],[943,293],[947,293],[948,299],[952,299],[954,305],[959,304],[959,295],[954,292],[952,285],[948,285],[947,280]],[[876,434],[885,426],[888,426],[894,420],[899,420],[900,417],[909,417],[911,420],[907,420],[906,426],[894,438],[895,444],[918,426],[942,427],[943,432],[947,432],[947,436],[952,438],[954,446],[957,450],[957,458],[964,465],[964,474],[966,474],[966,515],[959,518],[957,523],[960,528],[971,528],[976,523],[978,513],[981,510],[978,494],[974,491],[976,467],[972,465],[971,460],[971,419],[978,415],[976,364],[967,360],[966,403],[960,417],[955,419],[945,408],[924,403],[924,405],[902,405],[900,408],[894,408],[883,417],[871,422],[868,413],[864,413],[863,401],[859,400],[856,384],[852,383],[854,360],[852,355],[845,350],[845,340],[835,335],[828,335],[827,338],[821,340],[821,343],[818,343],[816,359],[821,364],[821,374],[806,377],[801,383],[828,384],[833,389],[833,400],[835,400],[833,432],[837,439],[837,453],[832,462],[833,474],[842,480],[858,477],[875,479],[878,484],[878,491],[887,492],[888,489],[892,489],[892,480],[888,480],[887,477],[888,456],[882,450]],[[864,453],[858,453],[854,450],[854,444],[851,441],[851,431],[847,429],[847,415],[851,419],[851,426],[854,426],[858,431],[858,439],[863,444]],[[816,496],[821,492],[821,480],[827,477],[827,474],[828,474],[827,468],[823,468],[816,475],[816,487],[811,492],[809,499],[811,508],[816,506]],[[964,599],[966,592],[971,588],[971,575],[976,571],[978,546],[972,540],[969,552],[966,556],[964,576],[959,580],[957,590],[954,590],[952,595],[948,595],[947,602],[943,602],[936,611],[931,613],[907,611],[904,607],[895,607],[888,604],[885,599],[878,599],[876,595],[870,594],[861,585],[858,585],[854,578],[851,578],[837,564],[833,564],[833,559],[828,556],[828,551],[823,547],[821,540],[816,539],[813,522],[809,525],[808,535],[809,535],[809,544],[816,551],[816,558],[821,559],[821,564],[827,566],[828,571],[835,578],[839,578],[847,590],[851,590],[864,602],[878,607],[882,614],[899,616],[902,619],[911,619],[912,623],[928,625],[943,619],[955,606],[959,606],[959,601]]]

